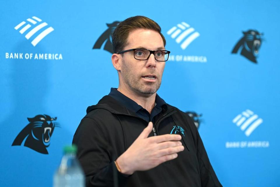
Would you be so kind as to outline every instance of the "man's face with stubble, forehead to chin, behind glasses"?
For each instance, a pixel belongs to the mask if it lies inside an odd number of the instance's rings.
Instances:
[[[124,50],[142,48],[164,50],[160,34],[153,30],[137,29],[129,33]],[[147,60],[136,60],[134,51],[122,55],[120,81],[127,89],[142,94],[153,94],[159,88],[165,62],[156,61],[153,54]]]

